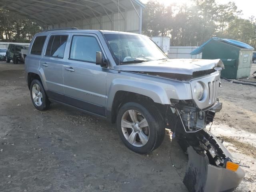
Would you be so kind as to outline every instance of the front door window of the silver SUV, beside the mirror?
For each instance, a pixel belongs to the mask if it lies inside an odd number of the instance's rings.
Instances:
[[[73,36],[70,59],[95,63],[96,51],[101,51],[96,38],[92,36]]]

